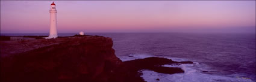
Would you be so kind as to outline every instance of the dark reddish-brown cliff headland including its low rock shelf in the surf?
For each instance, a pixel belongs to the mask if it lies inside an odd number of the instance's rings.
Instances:
[[[140,82],[144,81],[138,72],[141,69],[166,74],[184,72],[181,68],[161,66],[182,62],[158,57],[122,62],[114,54],[113,41],[106,37],[74,36],[0,44],[4,82]]]

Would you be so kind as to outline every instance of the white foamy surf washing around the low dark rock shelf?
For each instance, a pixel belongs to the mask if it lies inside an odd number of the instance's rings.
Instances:
[[[122,61],[143,59],[146,57],[164,57],[154,56],[149,54],[130,54],[128,56],[120,57]],[[188,59],[181,59],[176,57],[165,57],[172,59],[173,61],[181,62],[187,61]],[[254,82],[250,78],[246,77],[235,77],[238,75],[214,75],[211,74],[211,70],[207,65],[199,62],[193,62],[193,64],[181,64],[181,65],[163,65],[166,67],[179,67],[185,72],[181,74],[161,74],[150,70],[141,70],[143,73],[141,76],[145,81],[148,82]]]

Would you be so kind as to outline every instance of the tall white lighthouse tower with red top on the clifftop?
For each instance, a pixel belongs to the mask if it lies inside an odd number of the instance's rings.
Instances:
[[[57,10],[56,10],[56,5],[54,2],[51,4],[51,9],[50,9],[50,32],[49,32],[49,37],[46,38],[57,38]]]

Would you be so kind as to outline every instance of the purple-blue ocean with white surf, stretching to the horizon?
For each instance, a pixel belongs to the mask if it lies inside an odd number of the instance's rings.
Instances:
[[[1,34],[10,36],[48,34]],[[58,36],[72,36],[63,33]],[[187,33],[88,33],[113,39],[115,54],[122,61],[145,57],[166,57],[193,64],[175,65],[182,74],[161,74],[142,70],[149,82],[255,82],[255,34]],[[164,65],[173,67],[173,65]],[[156,80],[159,78],[160,80]]]

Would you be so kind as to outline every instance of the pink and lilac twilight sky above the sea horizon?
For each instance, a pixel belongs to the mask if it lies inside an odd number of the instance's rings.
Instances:
[[[52,1],[1,1],[1,34],[49,33]],[[255,1],[54,1],[58,33],[255,34]]]

